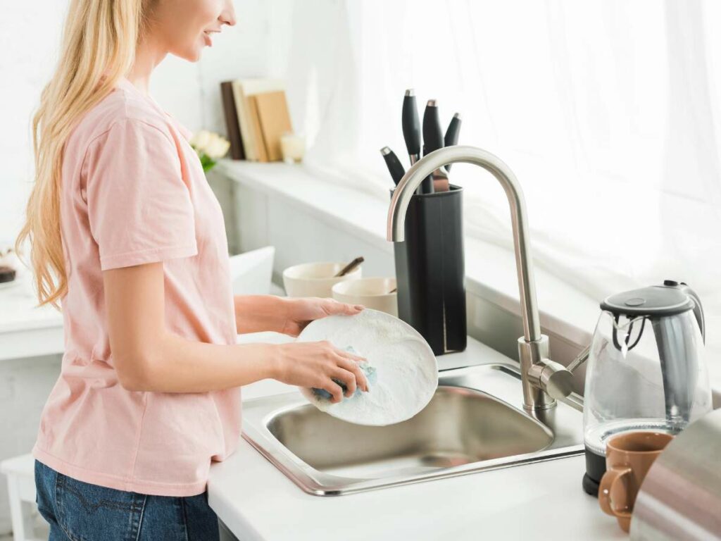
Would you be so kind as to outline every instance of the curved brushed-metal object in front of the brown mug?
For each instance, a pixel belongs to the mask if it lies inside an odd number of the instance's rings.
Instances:
[[[632,540],[721,540],[721,410],[668,444],[641,485]]]

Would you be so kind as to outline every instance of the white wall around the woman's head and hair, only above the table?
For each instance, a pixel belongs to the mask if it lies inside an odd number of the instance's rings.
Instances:
[[[151,82],[157,102],[191,131],[225,132],[221,81],[267,74],[269,7],[234,0],[238,24],[225,28],[199,63],[168,57]],[[30,123],[57,61],[67,0],[3,2],[0,18],[0,248],[19,229],[32,180]]]

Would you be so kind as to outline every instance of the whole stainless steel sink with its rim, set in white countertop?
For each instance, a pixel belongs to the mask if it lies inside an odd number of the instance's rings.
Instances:
[[[523,410],[511,364],[443,371],[415,417],[359,426],[309,405],[298,392],[243,404],[244,438],[304,491],[319,496],[465,475],[583,452],[578,397]]]

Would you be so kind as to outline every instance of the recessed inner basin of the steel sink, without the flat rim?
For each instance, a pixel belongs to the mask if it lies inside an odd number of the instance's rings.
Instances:
[[[394,425],[353,425],[306,405],[279,413],[268,430],[316,470],[373,478],[536,452],[553,441],[548,428],[485,392],[445,386]]]

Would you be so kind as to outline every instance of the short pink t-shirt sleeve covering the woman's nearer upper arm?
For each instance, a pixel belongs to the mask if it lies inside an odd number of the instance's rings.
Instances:
[[[84,175],[103,271],[198,253],[180,157],[160,128],[132,119],[113,124],[89,146]]]

